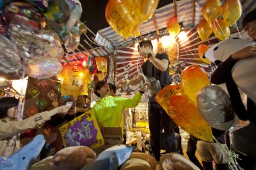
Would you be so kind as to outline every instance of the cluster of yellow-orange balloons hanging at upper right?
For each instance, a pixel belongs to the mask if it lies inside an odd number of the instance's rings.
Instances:
[[[231,27],[236,24],[236,21],[242,15],[242,11],[240,0],[227,0],[223,6],[221,6],[220,0],[207,0],[201,9],[205,19],[201,20],[197,25],[199,37],[202,41],[205,41],[214,32],[214,35],[220,40],[228,39],[230,36],[229,26]],[[223,19],[219,17],[220,15],[222,15]],[[199,46],[199,57],[203,62],[210,64],[210,60],[202,58],[206,51],[205,46]]]

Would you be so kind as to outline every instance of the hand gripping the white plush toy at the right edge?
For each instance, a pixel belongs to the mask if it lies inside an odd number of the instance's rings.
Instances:
[[[250,46],[247,46],[242,50],[232,54],[231,57],[234,60],[239,60],[239,59],[247,58],[250,56],[256,56],[256,43],[253,43]]]

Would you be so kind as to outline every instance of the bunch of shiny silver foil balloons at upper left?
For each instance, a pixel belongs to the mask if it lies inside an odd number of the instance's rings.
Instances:
[[[62,69],[57,58],[64,54],[61,44],[73,49],[76,44],[69,35],[84,29],[77,24],[79,5],[69,0],[1,2],[0,75],[9,79],[22,78],[24,71],[36,79],[57,75]]]

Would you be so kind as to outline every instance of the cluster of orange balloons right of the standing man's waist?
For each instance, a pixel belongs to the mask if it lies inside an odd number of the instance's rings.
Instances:
[[[156,101],[174,122],[197,138],[213,142],[211,127],[197,110],[197,93],[210,84],[207,73],[191,65],[181,73],[181,85],[168,85],[156,95]]]

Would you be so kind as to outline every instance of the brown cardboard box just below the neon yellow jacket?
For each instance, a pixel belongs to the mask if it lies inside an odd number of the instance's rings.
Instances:
[[[123,140],[123,133],[121,128],[112,128],[112,127],[105,127],[103,128],[103,138],[104,138],[104,145],[95,148],[94,152],[96,155],[99,155],[107,148],[114,146],[116,144],[122,144]]]

